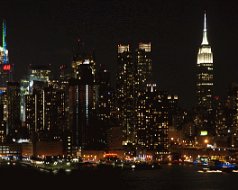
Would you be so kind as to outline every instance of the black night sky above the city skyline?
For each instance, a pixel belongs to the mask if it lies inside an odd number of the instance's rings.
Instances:
[[[117,44],[152,42],[154,80],[162,90],[195,103],[195,69],[207,11],[208,40],[214,54],[215,94],[224,97],[238,82],[238,5],[229,1],[69,0],[0,1],[7,21],[14,78],[29,64],[70,65],[77,39],[94,49],[96,62],[115,76]]]

